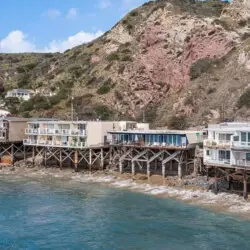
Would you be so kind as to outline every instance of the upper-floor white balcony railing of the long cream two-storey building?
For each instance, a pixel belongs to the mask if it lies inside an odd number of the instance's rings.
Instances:
[[[85,130],[70,130],[70,129],[25,129],[27,135],[65,135],[65,136],[86,136]]]

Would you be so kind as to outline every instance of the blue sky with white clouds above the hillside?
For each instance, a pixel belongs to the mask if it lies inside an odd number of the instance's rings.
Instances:
[[[0,53],[63,52],[147,0],[0,0]]]

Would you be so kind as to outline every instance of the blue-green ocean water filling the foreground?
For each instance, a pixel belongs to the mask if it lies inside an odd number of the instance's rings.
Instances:
[[[98,183],[0,175],[0,249],[250,249],[250,221]]]

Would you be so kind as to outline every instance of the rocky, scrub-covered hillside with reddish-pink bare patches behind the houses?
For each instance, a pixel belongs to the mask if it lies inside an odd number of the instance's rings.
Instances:
[[[24,115],[67,118],[72,93],[80,119],[144,117],[176,128],[247,119],[249,6],[151,1],[63,54],[0,55],[2,85],[55,94],[16,107]]]

